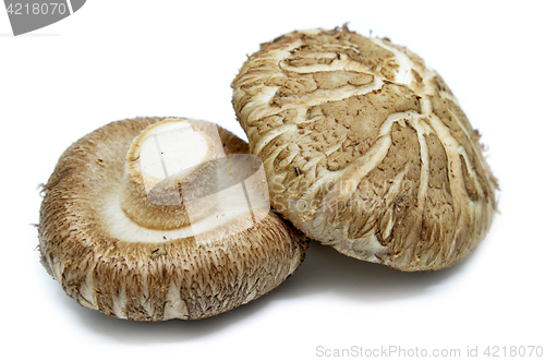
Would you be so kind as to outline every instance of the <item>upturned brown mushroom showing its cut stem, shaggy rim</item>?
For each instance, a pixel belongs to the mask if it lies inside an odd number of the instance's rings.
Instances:
[[[205,121],[92,132],[44,188],[43,265],[81,305],[119,318],[203,318],[259,298],[298,268],[307,241],[270,210],[246,153]]]

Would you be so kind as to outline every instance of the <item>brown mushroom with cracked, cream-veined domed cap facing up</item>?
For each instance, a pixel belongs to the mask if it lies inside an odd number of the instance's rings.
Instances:
[[[271,205],[347,255],[439,269],[488,231],[497,183],[443,79],[348,28],[263,44],[232,83]]]

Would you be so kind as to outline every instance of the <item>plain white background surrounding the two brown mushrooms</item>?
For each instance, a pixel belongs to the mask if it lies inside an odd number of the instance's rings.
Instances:
[[[468,347],[481,356],[487,346],[545,348],[541,4],[90,0],[19,37],[0,9],[2,353],[312,360],[326,358],[319,347],[445,348],[462,357]],[[244,137],[230,82],[246,55],[293,29],[346,22],[423,57],[484,135],[500,214],[473,255],[449,269],[409,274],[313,242],[300,269],[271,293],[202,321],[114,320],[64,294],[38,263],[29,224],[38,222],[36,188],[72,142],[135,116],[206,119]]]

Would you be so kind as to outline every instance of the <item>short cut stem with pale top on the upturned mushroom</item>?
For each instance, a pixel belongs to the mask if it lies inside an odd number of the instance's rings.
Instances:
[[[168,118],[147,127],[126,155],[123,212],[161,230],[205,217],[214,207],[216,149],[213,139],[187,120]]]

